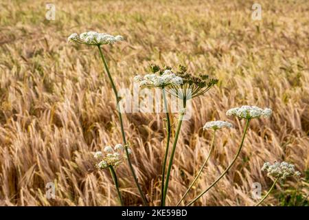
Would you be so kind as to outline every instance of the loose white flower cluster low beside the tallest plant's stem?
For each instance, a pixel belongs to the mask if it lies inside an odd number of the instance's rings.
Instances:
[[[131,153],[130,148],[128,148],[128,151]],[[119,166],[124,159],[126,159],[124,146],[122,146],[122,144],[116,144],[114,148],[106,146],[104,148],[104,153],[102,153],[102,151],[97,151],[93,154],[95,159],[100,159],[100,162],[95,165],[97,168],[104,169],[110,166]]]

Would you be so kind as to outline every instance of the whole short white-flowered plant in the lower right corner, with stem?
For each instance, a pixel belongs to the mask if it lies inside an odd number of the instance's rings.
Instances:
[[[265,171],[268,177],[275,178],[275,181],[273,181],[273,185],[269,188],[268,192],[266,192],[266,195],[264,195],[264,197],[256,203],[255,206],[259,206],[266,199],[266,197],[268,197],[275,187],[275,184],[277,184],[277,181],[284,181],[287,177],[299,177],[301,175],[298,170],[295,170],[295,166],[293,164],[288,164],[287,162],[275,162],[274,164],[265,162],[261,170]]]

